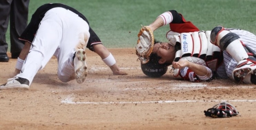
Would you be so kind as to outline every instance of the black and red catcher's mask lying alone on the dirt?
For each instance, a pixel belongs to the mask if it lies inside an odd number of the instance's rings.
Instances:
[[[238,115],[236,108],[229,103],[219,103],[204,111],[205,116],[217,117],[232,117]]]

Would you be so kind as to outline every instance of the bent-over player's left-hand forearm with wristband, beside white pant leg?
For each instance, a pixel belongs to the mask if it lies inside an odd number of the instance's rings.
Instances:
[[[29,42],[25,41],[24,47],[22,48],[20,55],[17,59],[16,68],[13,73],[14,75],[17,75],[20,73],[23,62],[24,62],[25,58],[27,57],[27,55],[29,54],[30,47],[31,47],[31,44]]]

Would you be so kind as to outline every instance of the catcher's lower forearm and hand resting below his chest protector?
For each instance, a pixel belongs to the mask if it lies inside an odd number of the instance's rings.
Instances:
[[[184,67],[188,67],[191,71],[193,71],[201,80],[208,80],[212,78],[212,71],[208,67],[205,67],[201,64],[192,63],[187,60],[179,60],[178,62],[172,63],[173,68],[182,69]]]

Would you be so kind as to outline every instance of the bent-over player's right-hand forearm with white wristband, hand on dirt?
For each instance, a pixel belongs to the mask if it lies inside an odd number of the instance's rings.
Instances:
[[[94,51],[101,57],[103,62],[110,67],[113,75],[127,75],[126,72],[120,70],[113,55],[102,44],[93,45],[93,48]]]

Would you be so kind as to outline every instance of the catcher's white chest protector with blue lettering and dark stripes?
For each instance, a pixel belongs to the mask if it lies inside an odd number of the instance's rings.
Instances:
[[[169,44],[175,46],[174,61],[186,59],[190,62],[201,64],[213,72],[223,61],[223,53],[218,46],[210,42],[211,31],[191,33],[177,33],[169,31],[166,38]],[[174,76],[179,75],[179,69],[174,69]]]

